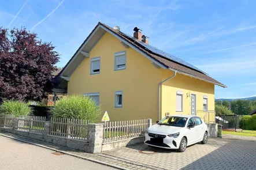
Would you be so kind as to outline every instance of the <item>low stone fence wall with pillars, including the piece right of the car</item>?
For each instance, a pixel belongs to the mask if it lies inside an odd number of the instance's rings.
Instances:
[[[151,126],[152,120],[149,119],[149,126]],[[103,133],[105,133],[104,124],[102,123],[89,123],[88,134],[86,140],[65,138],[57,135],[50,135],[51,121],[44,122],[44,130],[42,133],[35,133],[31,131],[18,130],[17,118],[13,118],[12,128],[0,127],[1,131],[8,133],[23,135],[25,137],[38,139],[45,142],[54,143],[56,145],[65,146],[72,149],[82,150],[87,153],[100,153],[105,150],[111,150],[114,148],[122,148],[129,145],[135,145],[137,143],[143,143],[143,135],[134,138],[122,139],[119,141],[112,141],[103,143]],[[216,123],[208,124],[208,136],[217,137],[218,126]]]

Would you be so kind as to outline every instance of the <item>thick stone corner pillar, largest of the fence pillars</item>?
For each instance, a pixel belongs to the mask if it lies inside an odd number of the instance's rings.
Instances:
[[[103,123],[89,123],[87,141],[90,153],[100,153],[103,143]]]

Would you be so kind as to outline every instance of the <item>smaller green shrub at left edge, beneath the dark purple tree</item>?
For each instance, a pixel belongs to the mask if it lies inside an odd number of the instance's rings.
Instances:
[[[0,105],[0,114],[11,114],[16,116],[31,115],[32,109],[29,107],[29,104],[24,101],[5,100],[2,105]]]

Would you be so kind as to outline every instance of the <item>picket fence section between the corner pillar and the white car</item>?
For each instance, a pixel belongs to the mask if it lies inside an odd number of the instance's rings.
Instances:
[[[103,143],[136,138],[144,135],[149,124],[147,119],[105,122]]]

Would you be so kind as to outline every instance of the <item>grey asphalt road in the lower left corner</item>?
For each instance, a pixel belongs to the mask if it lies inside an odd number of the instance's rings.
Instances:
[[[0,135],[0,169],[115,169]]]

